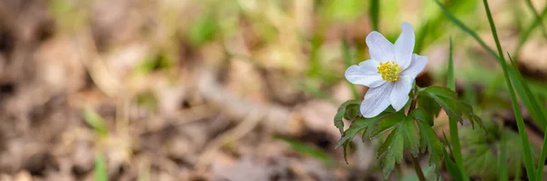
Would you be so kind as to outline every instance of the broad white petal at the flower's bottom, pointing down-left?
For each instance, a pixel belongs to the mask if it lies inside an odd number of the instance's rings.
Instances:
[[[361,115],[374,117],[386,110],[389,106],[389,94],[393,89],[393,83],[370,88],[366,91],[365,100],[361,103]]]

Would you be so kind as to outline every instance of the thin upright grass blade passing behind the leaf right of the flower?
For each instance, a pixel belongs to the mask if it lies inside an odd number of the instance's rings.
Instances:
[[[452,56],[453,47],[452,47],[452,38],[450,37],[450,45],[449,45],[449,70],[448,70],[448,80],[447,80],[447,86],[450,90],[456,91],[456,80],[454,77],[454,58]],[[458,121],[455,119],[449,119],[449,134],[450,134],[450,142],[452,142],[452,156],[454,156],[454,161],[456,163],[456,166],[459,167],[459,170],[461,173],[461,176],[469,180],[469,176],[466,176],[465,171],[463,169],[463,157],[461,156],[461,145],[459,144],[459,136],[458,136]]]

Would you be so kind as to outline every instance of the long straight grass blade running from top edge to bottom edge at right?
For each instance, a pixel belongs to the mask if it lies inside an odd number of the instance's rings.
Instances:
[[[499,57],[501,58],[500,63],[501,63],[501,68],[503,68],[503,75],[505,76],[505,80],[509,88],[509,92],[511,94],[511,103],[512,103],[511,105],[513,107],[513,111],[517,119],[517,127],[519,129],[519,135],[521,136],[522,148],[523,148],[522,154],[524,154],[524,165],[526,166],[526,173],[528,174],[528,178],[530,178],[531,180],[535,180],[535,169],[532,162],[532,150],[531,150],[531,146],[530,146],[528,136],[525,130],[524,120],[522,120],[521,108],[519,107],[517,96],[515,95],[515,90],[513,89],[513,86],[511,83],[513,80],[511,80],[509,76],[508,69],[510,67],[508,67],[505,61],[505,57],[503,55],[503,50],[501,49],[500,39],[498,38],[496,25],[494,24],[494,20],[490,13],[490,6],[488,5],[488,0],[482,0],[482,2],[484,4],[484,9],[486,10],[486,15],[488,17],[490,30],[492,31],[492,36],[496,43],[496,47],[498,48]]]

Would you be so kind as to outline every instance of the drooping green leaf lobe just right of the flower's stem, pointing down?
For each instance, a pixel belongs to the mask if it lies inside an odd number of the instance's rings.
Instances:
[[[429,151],[429,165],[435,166],[436,170],[440,168],[440,161],[442,158],[442,143],[440,143],[439,137],[426,122],[418,121],[419,127],[419,145],[422,153]]]

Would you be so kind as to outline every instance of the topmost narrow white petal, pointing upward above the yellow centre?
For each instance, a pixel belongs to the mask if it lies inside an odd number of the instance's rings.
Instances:
[[[412,58],[414,51],[414,29],[407,22],[401,24],[402,32],[395,42],[395,61],[403,70],[405,70]]]

